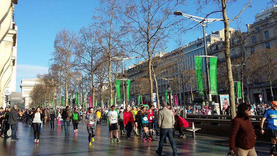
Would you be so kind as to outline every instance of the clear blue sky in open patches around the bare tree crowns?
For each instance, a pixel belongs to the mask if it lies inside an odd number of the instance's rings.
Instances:
[[[190,2],[192,0],[189,0]],[[247,0],[239,0],[228,8],[228,17],[233,18],[238,14],[241,5]],[[233,21],[230,27],[235,28],[237,21],[242,21],[242,26],[246,30],[245,24],[252,24],[254,16],[266,9],[269,0],[253,0],[251,8],[246,8],[240,18]],[[91,23],[93,10],[98,5],[95,0],[67,0],[67,1],[18,1],[14,7],[15,22],[18,26],[17,34],[17,77],[16,91],[20,92],[21,79],[35,78],[38,73],[47,73],[48,60],[52,58],[53,44],[57,31],[66,28],[78,32],[81,27]],[[192,3],[184,8],[186,14],[195,15],[196,9]],[[184,11],[181,10],[181,11]],[[211,12],[211,7],[202,10],[202,13]],[[201,15],[201,14],[198,14]],[[219,18],[209,16],[209,18]],[[223,22],[212,23],[206,28],[210,34],[212,31],[224,28]],[[194,31],[183,35],[185,43],[202,37],[202,31]],[[166,51],[174,50],[173,40],[168,42]]]

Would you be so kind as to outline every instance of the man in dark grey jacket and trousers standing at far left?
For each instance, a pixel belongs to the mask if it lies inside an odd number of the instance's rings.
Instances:
[[[17,105],[14,105],[14,107],[12,107],[9,120],[8,120],[8,123],[11,125],[11,128],[12,128],[12,141],[19,140],[18,138],[16,138],[16,130],[18,125],[18,120],[17,120],[18,112],[16,109],[17,109]]]

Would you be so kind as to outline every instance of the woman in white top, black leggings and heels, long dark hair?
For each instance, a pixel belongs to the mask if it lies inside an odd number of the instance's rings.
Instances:
[[[34,143],[38,143],[40,139],[40,126],[41,126],[41,121],[43,120],[44,115],[42,114],[42,111],[40,110],[40,107],[37,107],[35,109],[35,114],[33,115],[33,129],[34,129]]]

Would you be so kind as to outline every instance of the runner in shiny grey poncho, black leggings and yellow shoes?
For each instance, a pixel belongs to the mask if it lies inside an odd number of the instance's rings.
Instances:
[[[95,122],[98,120],[98,116],[96,114],[93,114],[94,110],[93,108],[89,109],[89,114],[85,117],[85,122],[87,122],[87,132],[89,133],[89,146],[91,146],[91,140],[94,142],[94,136],[95,136]]]

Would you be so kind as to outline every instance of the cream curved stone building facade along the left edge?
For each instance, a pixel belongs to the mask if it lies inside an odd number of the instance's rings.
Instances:
[[[16,34],[14,4],[17,0],[0,1],[0,107],[5,107],[4,90],[15,91]]]

